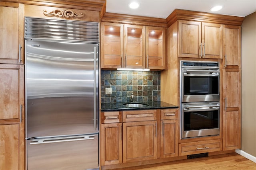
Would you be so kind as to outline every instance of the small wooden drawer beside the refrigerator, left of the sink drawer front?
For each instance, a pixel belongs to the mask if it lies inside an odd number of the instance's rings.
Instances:
[[[100,112],[100,123],[122,122],[122,111]]]

